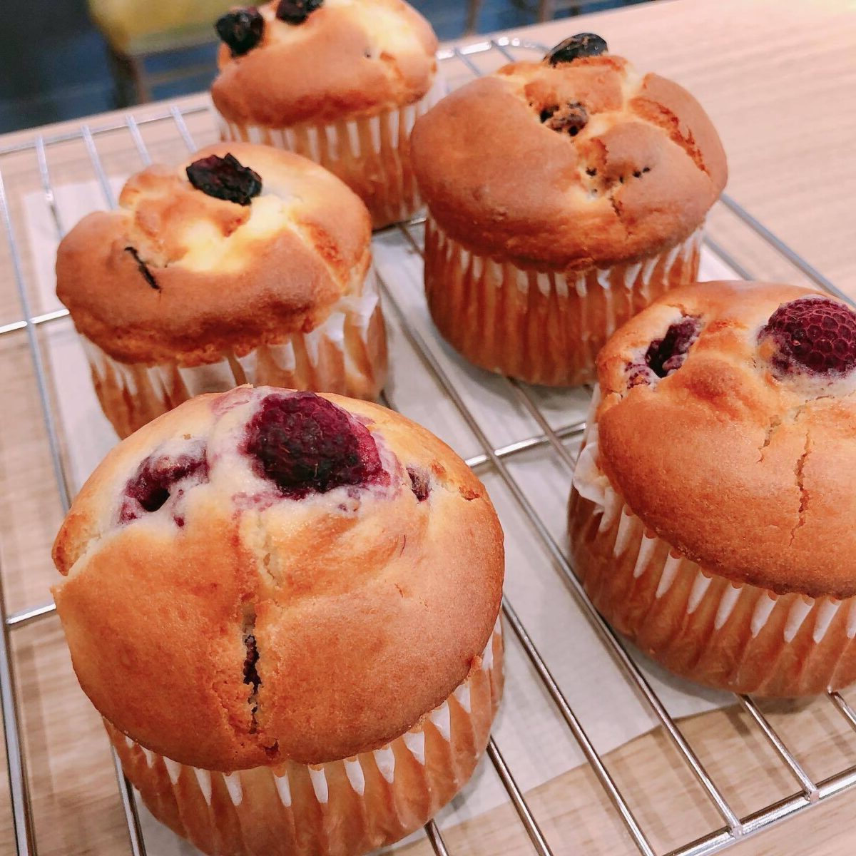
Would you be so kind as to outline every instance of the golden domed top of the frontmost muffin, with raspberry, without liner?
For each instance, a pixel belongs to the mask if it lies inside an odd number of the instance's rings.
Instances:
[[[54,561],[92,703],[224,772],[401,736],[479,668],[502,597],[496,512],[448,446],[270,387],[201,395],[116,446]]]

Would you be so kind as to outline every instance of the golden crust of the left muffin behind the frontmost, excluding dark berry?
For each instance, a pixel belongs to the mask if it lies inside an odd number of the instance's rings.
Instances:
[[[227,152],[261,175],[249,205],[187,181],[187,164]],[[123,362],[196,366],[309,332],[371,263],[360,199],[317,164],[267,146],[220,143],[175,169],[149,167],[119,204],[62,240],[56,294],[77,330]]]

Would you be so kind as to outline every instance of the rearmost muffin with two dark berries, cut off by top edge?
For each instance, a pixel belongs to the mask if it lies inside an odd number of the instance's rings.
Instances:
[[[211,98],[224,140],[312,158],[368,205],[411,217],[413,121],[442,94],[437,37],[401,0],[281,0],[223,15]]]

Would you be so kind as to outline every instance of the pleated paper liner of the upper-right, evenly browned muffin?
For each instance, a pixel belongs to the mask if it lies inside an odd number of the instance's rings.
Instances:
[[[597,352],[621,324],[669,288],[696,281],[701,238],[699,228],[632,265],[524,270],[470,253],[429,212],[425,294],[437,329],[476,366],[574,386],[594,379]]]

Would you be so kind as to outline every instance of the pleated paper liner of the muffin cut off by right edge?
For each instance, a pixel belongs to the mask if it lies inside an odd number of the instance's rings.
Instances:
[[[699,567],[633,514],[597,465],[597,423],[589,425],[571,550],[616,630],[676,674],[737,693],[811,695],[856,680],[856,597],[776,594]]]

